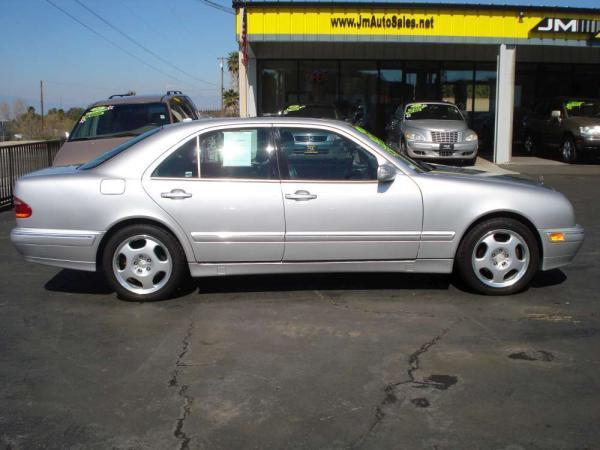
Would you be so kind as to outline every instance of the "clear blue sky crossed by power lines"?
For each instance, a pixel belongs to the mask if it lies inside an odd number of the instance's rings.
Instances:
[[[211,8],[201,0],[79,0],[162,59],[208,82],[203,83],[136,47],[76,0],[51,1],[164,73],[118,50],[46,0],[2,0],[0,101],[20,98],[38,109],[39,81],[44,80],[47,107],[85,106],[129,90],[143,94],[167,89],[183,90],[200,108],[219,105],[217,57],[237,49],[233,15]],[[231,5],[230,0],[212,1],[226,8]],[[441,2],[598,8],[598,1]],[[227,76],[225,85],[229,86]]]

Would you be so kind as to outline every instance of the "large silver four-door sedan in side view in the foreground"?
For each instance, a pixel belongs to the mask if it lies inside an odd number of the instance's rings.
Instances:
[[[101,270],[135,301],[169,297],[190,275],[305,272],[455,270],[474,291],[511,294],[583,241],[552,189],[415,162],[316,119],[165,126],[24,176],[15,195],[25,259]]]

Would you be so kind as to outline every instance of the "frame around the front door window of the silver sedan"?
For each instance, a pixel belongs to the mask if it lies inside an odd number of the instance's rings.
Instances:
[[[365,184],[365,183],[378,184],[379,183],[379,181],[377,180],[377,177],[375,177],[375,179],[373,179],[373,180],[328,180],[328,179],[312,179],[312,178],[290,179],[289,178],[289,169],[287,166],[287,160],[284,159],[284,157],[283,157],[281,141],[280,141],[280,138],[281,138],[280,130],[283,128],[298,128],[298,129],[304,129],[304,130],[322,130],[322,131],[325,131],[328,133],[334,133],[344,139],[351,141],[355,145],[359,146],[363,151],[365,151],[368,154],[370,154],[371,156],[373,156],[375,158],[375,160],[377,161],[378,168],[382,164],[385,164],[386,162],[388,162],[387,159],[385,159],[384,157],[379,155],[379,153],[373,151],[371,148],[366,146],[359,139],[356,139],[353,135],[345,132],[345,130],[341,130],[341,129],[337,129],[337,128],[329,128],[327,126],[323,126],[323,125],[319,125],[319,124],[307,125],[307,124],[301,124],[301,123],[290,123],[290,124],[274,123],[272,134],[273,134],[275,148],[276,148],[276,152],[277,152],[277,161],[278,161],[278,166],[279,166],[279,178],[281,179],[282,183],[361,183],[361,184]]]

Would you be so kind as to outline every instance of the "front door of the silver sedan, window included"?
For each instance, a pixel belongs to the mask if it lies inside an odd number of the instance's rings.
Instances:
[[[416,258],[422,201],[410,177],[378,183],[381,157],[343,132],[286,126],[275,134],[285,261]]]

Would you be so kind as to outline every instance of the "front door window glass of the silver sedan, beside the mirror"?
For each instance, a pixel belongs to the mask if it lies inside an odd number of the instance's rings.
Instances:
[[[289,180],[377,180],[377,158],[332,131],[280,128],[279,148]]]

